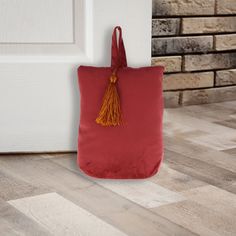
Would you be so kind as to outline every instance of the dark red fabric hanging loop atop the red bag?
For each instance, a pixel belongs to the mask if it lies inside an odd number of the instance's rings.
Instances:
[[[118,43],[117,43],[117,30],[119,31]],[[112,34],[111,68],[113,71],[117,71],[120,67],[127,67],[127,59],[126,59],[124,42],[122,38],[122,29],[120,26],[116,26]]]

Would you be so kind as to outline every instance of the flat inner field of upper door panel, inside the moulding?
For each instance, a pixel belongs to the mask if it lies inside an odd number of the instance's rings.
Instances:
[[[0,43],[73,43],[73,0],[0,0]]]

